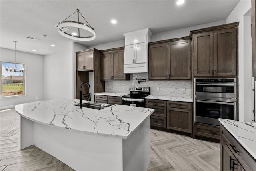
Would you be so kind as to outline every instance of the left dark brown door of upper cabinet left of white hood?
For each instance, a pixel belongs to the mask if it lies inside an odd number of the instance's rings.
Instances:
[[[110,80],[113,76],[112,53],[100,54],[100,80]]]

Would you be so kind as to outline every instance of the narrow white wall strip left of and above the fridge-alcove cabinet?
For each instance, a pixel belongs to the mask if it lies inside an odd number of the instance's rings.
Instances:
[[[72,98],[76,99],[76,52],[88,49],[87,46],[72,42]]]

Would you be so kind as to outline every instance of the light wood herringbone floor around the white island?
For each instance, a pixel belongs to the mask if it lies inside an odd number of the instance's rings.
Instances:
[[[148,171],[218,171],[220,144],[151,130]],[[74,171],[32,145],[20,150],[20,115],[0,112],[0,171]]]

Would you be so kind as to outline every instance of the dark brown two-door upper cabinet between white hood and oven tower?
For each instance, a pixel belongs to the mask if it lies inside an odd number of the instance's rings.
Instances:
[[[191,79],[189,37],[151,42],[148,46],[149,80]]]

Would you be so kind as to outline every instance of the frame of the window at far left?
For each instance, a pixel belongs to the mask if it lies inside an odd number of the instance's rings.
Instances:
[[[7,96],[2,96],[2,93],[3,93],[3,80],[2,80],[2,63],[10,63],[10,64],[15,64],[15,62],[5,62],[5,61],[0,61],[0,74],[1,74],[1,79],[0,79],[0,98],[8,98],[8,97],[21,97],[21,96],[26,96],[26,72],[24,71],[23,72],[23,94],[20,94],[20,95],[7,95]],[[17,63],[16,64],[21,64],[23,65],[23,67],[25,68],[25,64],[24,63]],[[12,71],[13,72],[13,71]],[[12,73],[10,72],[10,73]],[[19,72],[19,71],[17,71]],[[6,80],[7,81],[7,80]]]

